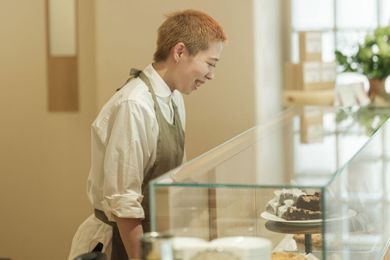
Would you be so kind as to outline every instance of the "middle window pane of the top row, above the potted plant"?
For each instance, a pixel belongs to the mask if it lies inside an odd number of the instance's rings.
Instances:
[[[336,1],[338,28],[375,28],[377,26],[376,1],[339,0]]]

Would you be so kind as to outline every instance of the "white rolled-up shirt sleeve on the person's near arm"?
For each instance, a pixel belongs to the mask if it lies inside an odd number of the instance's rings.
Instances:
[[[102,206],[110,221],[114,215],[144,218],[141,185],[155,146],[155,122],[150,112],[134,101],[121,103],[108,122],[109,139],[104,158]]]

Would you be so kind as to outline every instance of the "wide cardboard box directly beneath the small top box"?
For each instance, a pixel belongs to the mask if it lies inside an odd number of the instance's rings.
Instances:
[[[336,62],[286,62],[284,73],[287,90],[331,89],[336,83]]]

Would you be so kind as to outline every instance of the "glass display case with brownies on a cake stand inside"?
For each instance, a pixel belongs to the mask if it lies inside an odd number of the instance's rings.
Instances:
[[[389,114],[387,107],[285,110],[154,179],[151,228],[208,241],[262,237],[273,251],[320,259],[382,259],[390,242]],[[298,199],[288,201],[291,191]],[[294,234],[304,236],[304,248]]]

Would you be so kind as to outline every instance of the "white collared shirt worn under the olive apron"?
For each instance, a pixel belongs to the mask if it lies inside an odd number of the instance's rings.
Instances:
[[[153,86],[164,117],[173,123],[173,100],[184,130],[185,111],[181,93],[177,90],[172,92],[152,64],[143,72]],[[140,78],[128,82],[116,92],[92,123],[92,162],[87,194],[93,207],[103,210],[110,221],[115,221],[114,215],[144,218],[141,185],[144,174],[156,158],[158,128],[151,93]],[[111,239],[111,226],[92,214],[77,230],[69,259],[90,252],[101,242],[109,260]]]

